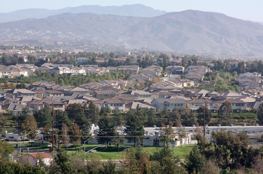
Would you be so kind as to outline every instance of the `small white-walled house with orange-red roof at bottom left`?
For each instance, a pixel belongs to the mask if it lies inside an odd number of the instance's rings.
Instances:
[[[32,166],[38,166],[40,160],[46,165],[50,166],[53,162],[53,157],[46,152],[28,153],[19,157],[19,162],[22,164],[29,164]]]

